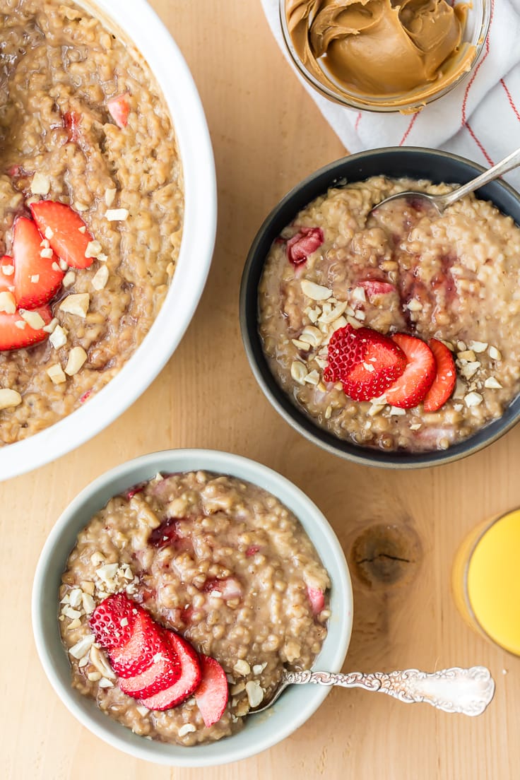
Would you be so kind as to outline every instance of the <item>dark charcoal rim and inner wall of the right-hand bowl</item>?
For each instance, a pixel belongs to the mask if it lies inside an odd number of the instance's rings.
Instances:
[[[271,403],[271,406],[273,406],[281,417],[284,418],[285,422],[291,425],[299,434],[302,434],[308,441],[312,441],[313,444],[320,446],[322,449],[327,450],[327,452],[331,452],[333,455],[363,466],[376,466],[389,469],[416,469],[430,466],[444,466],[447,463],[453,463],[463,457],[479,452],[479,450],[492,444],[493,441],[497,441],[498,438],[501,438],[501,436],[507,433],[511,427],[514,427],[518,422],[518,418],[520,418],[520,397],[516,396],[516,398],[511,401],[510,405],[500,418],[491,421],[469,438],[452,445],[447,450],[414,453],[386,453],[382,450],[363,448],[362,446],[354,445],[347,440],[339,439],[335,437],[334,434],[320,428],[310,417],[307,417],[302,410],[299,410],[299,408],[288,399],[288,396],[281,390],[274,380],[273,374],[271,374],[271,370],[267,365],[267,360],[265,360],[264,352],[261,349],[260,335],[257,332],[257,293],[256,281],[253,277],[256,276],[260,278],[261,268],[264,267],[265,258],[261,258],[258,255],[259,247],[264,243],[265,236],[269,235],[271,232],[272,225],[278,217],[278,214],[285,210],[286,207],[292,206],[293,202],[302,200],[302,191],[310,188],[313,192],[310,197],[307,197],[306,200],[304,199],[305,202],[302,203],[302,205],[292,207],[292,210],[288,208],[288,211],[291,211],[292,213],[291,218],[294,218],[306,204],[310,203],[315,197],[319,197],[320,194],[325,193],[328,187],[339,184],[342,179],[345,179],[345,173],[338,173],[342,168],[345,168],[345,166],[356,168],[356,165],[362,166],[363,161],[367,158],[377,160],[377,158],[384,158],[387,155],[395,156],[397,158],[406,158],[407,156],[412,155],[412,157],[416,157],[418,160],[421,158],[424,160],[429,160],[430,158],[436,158],[438,160],[441,158],[444,161],[449,161],[451,163],[455,162],[457,165],[462,165],[468,172],[469,178],[477,176],[479,173],[486,170],[482,165],[458,154],[429,147],[407,146],[381,147],[378,149],[361,151],[357,154],[349,154],[318,168],[317,171],[306,176],[305,179],[302,179],[301,182],[293,186],[270,211],[262,225],[260,225],[260,229],[256,232],[253,243],[249,248],[246,263],[242,271],[239,293],[239,319],[242,332],[242,343],[246,350],[249,367],[251,368],[251,371],[253,371],[253,375],[260,385],[260,389]],[[381,163],[381,167],[383,168],[382,175],[384,175],[384,162]],[[408,174],[406,171],[403,172],[402,176],[413,177],[412,174]],[[366,178],[366,176],[361,174],[360,167],[359,176],[353,176],[350,180],[356,182],[363,181],[363,179]],[[317,186],[317,182],[321,179],[327,180],[327,186]],[[508,196],[516,201],[518,208],[520,209],[520,194],[502,179],[495,179],[493,182],[483,187],[482,190],[496,190],[497,188],[508,193]],[[479,190],[477,190],[477,192],[478,191]],[[489,200],[493,202],[492,197],[489,197]],[[288,222],[286,224],[288,224]],[[254,317],[253,300],[255,301]],[[516,409],[514,410],[513,406],[515,406],[515,404]],[[489,431],[489,435],[483,434],[483,431]]]

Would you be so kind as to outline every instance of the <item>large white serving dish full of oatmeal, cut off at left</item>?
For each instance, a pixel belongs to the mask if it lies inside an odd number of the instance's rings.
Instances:
[[[0,15],[6,479],[97,434],[161,371],[207,277],[216,188],[192,76],[147,2]]]

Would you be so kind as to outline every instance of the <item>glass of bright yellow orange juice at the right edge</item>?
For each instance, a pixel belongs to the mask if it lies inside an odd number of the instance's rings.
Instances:
[[[520,509],[486,520],[465,538],[453,590],[470,626],[520,656]]]

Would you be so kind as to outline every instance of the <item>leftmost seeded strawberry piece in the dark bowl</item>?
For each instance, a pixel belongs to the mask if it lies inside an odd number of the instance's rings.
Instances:
[[[341,381],[345,395],[370,401],[405,371],[406,358],[392,341],[371,328],[338,328],[328,346],[325,381]]]

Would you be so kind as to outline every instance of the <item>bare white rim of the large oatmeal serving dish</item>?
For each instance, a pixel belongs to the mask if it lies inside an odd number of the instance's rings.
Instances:
[[[182,243],[166,300],[136,353],[81,409],[25,441],[0,448],[0,480],[75,449],[139,398],[179,345],[202,294],[213,254],[217,222],[213,151],[200,97],[179,48],[145,0],[79,0],[79,4],[92,12],[99,9],[105,23],[111,20],[136,44],[161,87],[172,115],[184,175]]]

